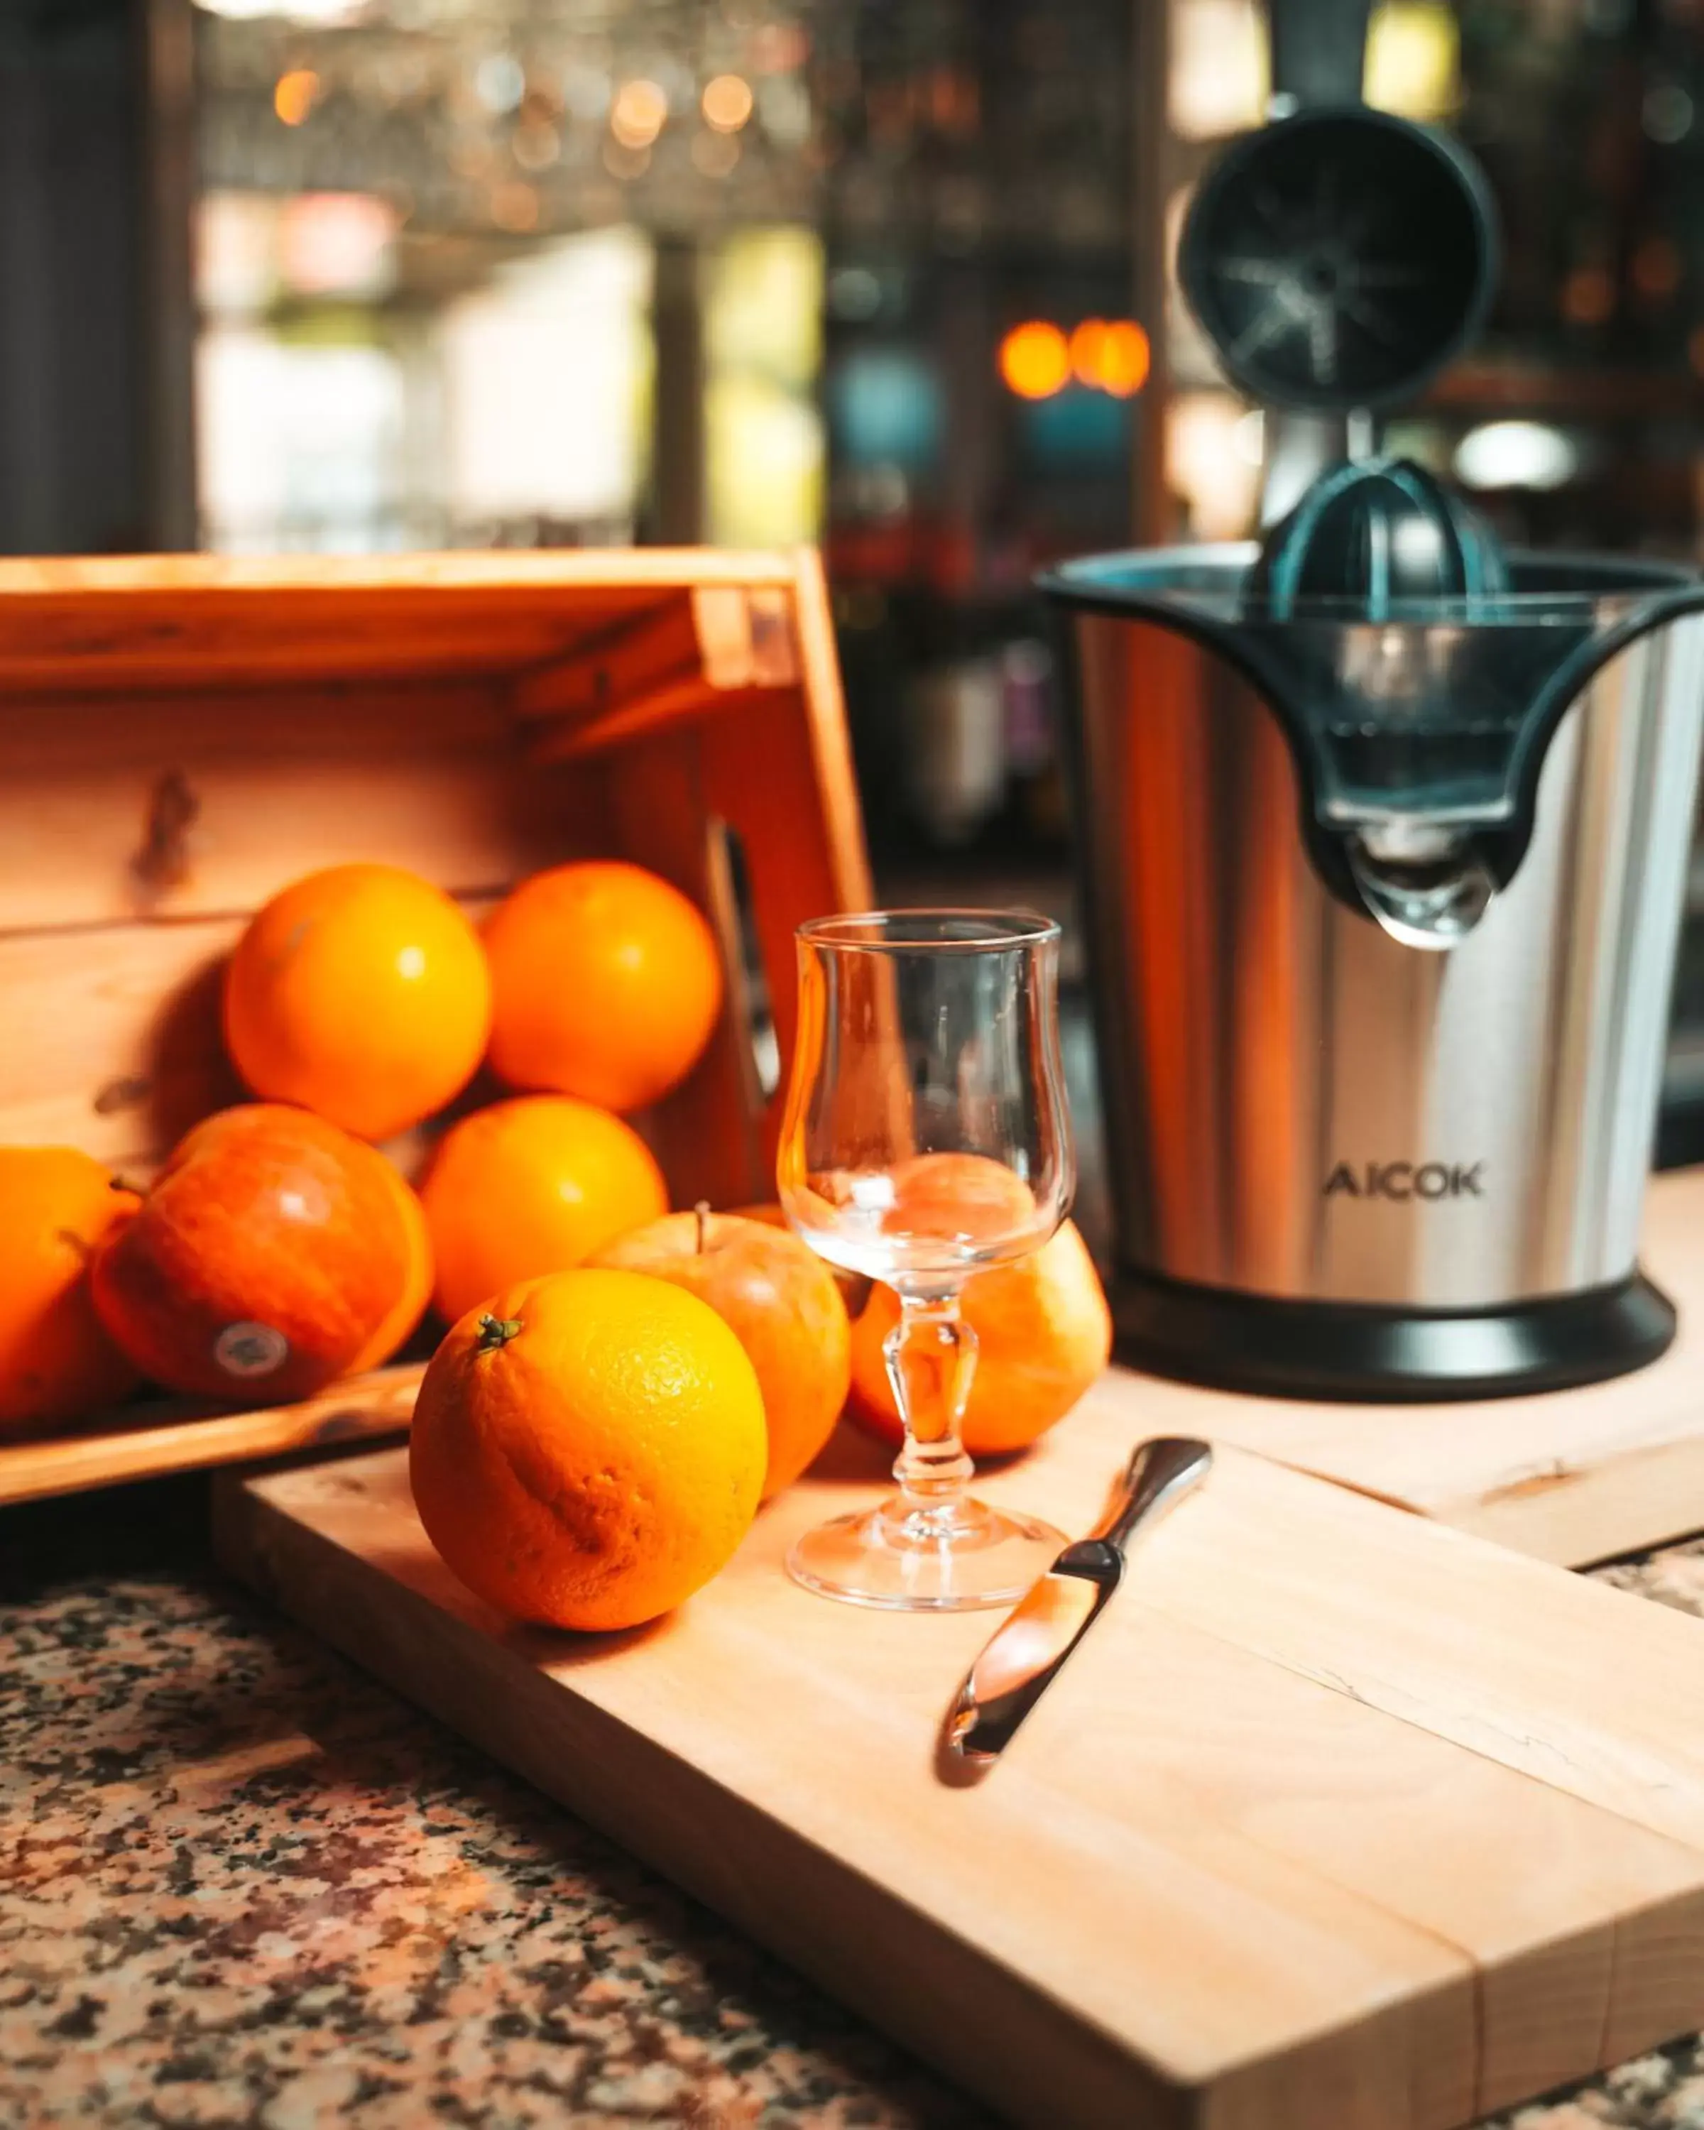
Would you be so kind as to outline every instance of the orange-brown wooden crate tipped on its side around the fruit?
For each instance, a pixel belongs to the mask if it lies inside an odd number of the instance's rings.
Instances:
[[[0,1142],[145,1178],[241,1099],[219,965],[300,873],[405,865],[477,914],[581,856],[711,916],[722,1027],[637,1123],[677,1203],[767,1197],[792,929],[869,901],[814,554],[0,562]],[[394,1429],[415,1374],[141,1402],[0,1448],[0,1502]]]

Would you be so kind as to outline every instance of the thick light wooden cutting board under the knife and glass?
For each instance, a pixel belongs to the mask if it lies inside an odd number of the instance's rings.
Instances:
[[[1082,1529],[1148,1402],[1091,1393],[986,1493]],[[1442,2130],[1704,2021],[1698,1621],[1227,1446],[956,1787],[937,1730],[995,1615],[782,1574],[878,1476],[837,1444],[611,1638],[466,1595],[403,1451],[230,1476],[217,1540],[1016,2121]]]

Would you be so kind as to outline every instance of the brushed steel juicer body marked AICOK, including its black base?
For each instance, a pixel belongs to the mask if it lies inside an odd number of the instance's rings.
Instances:
[[[1233,584],[1252,556],[1189,564]],[[1084,571],[1048,590],[1137,1357],[1376,1397],[1651,1359],[1672,1312],[1636,1255],[1704,720],[1689,579],[1657,573],[1659,626],[1604,633],[1600,605],[1600,662],[1534,735],[1525,843],[1459,935],[1412,944],[1333,861],[1308,748],[1235,639]]]

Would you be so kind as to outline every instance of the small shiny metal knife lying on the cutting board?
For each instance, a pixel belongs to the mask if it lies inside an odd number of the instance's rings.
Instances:
[[[1137,1529],[1193,1493],[1210,1465],[1212,1448],[1189,1436],[1137,1444],[1101,1525],[1025,1591],[969,1668],[946,1725],[946,1742],[963,1762],[995,1764],[1118,1589]]]

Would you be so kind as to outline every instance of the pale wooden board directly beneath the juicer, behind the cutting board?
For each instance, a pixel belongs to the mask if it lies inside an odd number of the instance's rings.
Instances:
[[[1644,1269],[1678,1304],[1615,1382],[1448,1406],[1235,1397],[1146,1382],[1157,1429],[1216,1433],[1519,1553],[1583,1568],[1704,1527],[1704,1172],[1651,1182]]]

